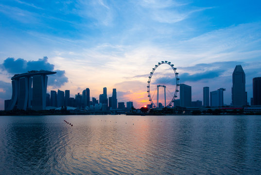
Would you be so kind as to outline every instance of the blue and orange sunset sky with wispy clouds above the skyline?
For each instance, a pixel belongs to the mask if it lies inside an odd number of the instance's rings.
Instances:
[[[261,76],[260,0],[1,0],[0,110],[11,99],[11,77],[28,70],[53,70],[47,92],[90,88],[99,98],[117,88],[118,102],[149,104],[152,68],[169,61],[179,83],[226,88],[242,65],[248,102],[252,79]],[[157,72],[162,73],[162,72]],[[172,89],[169,89],[172,92]]]

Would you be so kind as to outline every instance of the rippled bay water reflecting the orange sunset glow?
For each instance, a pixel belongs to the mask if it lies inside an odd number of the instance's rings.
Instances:
[[[0,116],[0,174],[260,175],[261,116]]]

